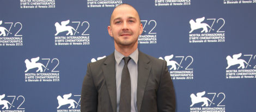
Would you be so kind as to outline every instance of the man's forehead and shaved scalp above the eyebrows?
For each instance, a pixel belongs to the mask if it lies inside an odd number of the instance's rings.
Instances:
[[[119,5],[117,8],[114,9],[111,21],[113,21],[115,18],[136,18],[139,19],[138,12],[135,10],[135,8],[131,7],[130,5]]]

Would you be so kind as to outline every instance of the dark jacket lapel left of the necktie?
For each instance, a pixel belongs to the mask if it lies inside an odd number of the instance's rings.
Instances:
[[[115,84],[115,58],[114,53],[108,56],[102,66],[103,74],[106,80],[108,94],[111,100],[113,111],[117,111],[117,87]]]

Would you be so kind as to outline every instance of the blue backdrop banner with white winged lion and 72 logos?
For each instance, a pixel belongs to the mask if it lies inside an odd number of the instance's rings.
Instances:
[[[176,111],[256,111],[255,0],[1,0],[0,112],[80,111],[122,3],[141,16],[139,49],[167,61]]]

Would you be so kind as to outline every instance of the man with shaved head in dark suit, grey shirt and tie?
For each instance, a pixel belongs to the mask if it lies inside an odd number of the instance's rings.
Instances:
[[[138,51],[138,36],[142,32],[135,8],[121,4],[113,10],[108,34],[114,38],[115,51],[88,64],[82,85],[82,112],[175,111],[174,88],[166,61]]]

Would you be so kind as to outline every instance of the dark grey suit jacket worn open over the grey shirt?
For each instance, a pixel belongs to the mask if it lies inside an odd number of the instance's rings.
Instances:
[[[175,93],[166,61],[140,51],[137,108],[138,112],[175,111]],[[81,111],[117,111],[114,53],[87,65],[82,85]]]

